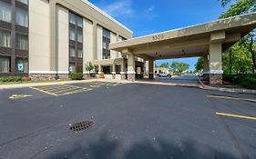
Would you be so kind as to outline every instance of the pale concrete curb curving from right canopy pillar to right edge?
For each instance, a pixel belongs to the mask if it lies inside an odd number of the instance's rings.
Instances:
[[[199,87],[205,90],[214,90],[220,92],[239,93],[239,94],[256,94],[256,90],[251,89],[239,89],[239,88],[217,88],[203,84],[199,78]]]

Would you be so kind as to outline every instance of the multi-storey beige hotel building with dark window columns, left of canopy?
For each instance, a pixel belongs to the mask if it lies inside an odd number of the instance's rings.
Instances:
[[[110,43],[132,31],[87,0],[0,0],[0,76],[66,79],[87,74],[125,78],[127,58]],[[143,69],[143,60],[136,58]]]

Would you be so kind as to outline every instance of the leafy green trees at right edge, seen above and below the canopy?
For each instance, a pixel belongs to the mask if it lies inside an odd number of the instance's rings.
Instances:
[[[221,5],[228,5],[230,0],[219,0]],[[230,8],[220,15],[226,18],[234,15],[249,14],[256,11],[256,0],[236,0]],[[229,50],[229,55],[223,55],[223,69],[230,74],[255,73],[256,70],[256,35],[255,30],[244,36],[239,43],[233,45]],[[251,62],[250,62],[251,61]]]

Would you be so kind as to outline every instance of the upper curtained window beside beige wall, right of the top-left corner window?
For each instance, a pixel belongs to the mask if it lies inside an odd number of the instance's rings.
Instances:
[[[15,22],[16,25],[21,25],[21,26],[28,26],[28,14],[27,11],[23,9],[16,8],[15,11]]]

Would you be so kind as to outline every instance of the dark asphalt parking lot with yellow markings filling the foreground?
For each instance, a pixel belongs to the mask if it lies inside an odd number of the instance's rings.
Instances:
[[[191,87],[94,82],[0,90],[0,158],[254,159],[255,116],[255,94]]]

